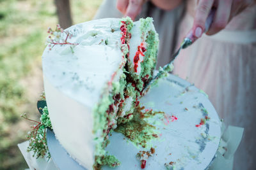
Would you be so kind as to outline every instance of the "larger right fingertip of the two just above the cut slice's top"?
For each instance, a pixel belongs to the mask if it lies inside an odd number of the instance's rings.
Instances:
[[[131,17],[134,20],[141,11],[142,0],[130,0],[125,16]]]

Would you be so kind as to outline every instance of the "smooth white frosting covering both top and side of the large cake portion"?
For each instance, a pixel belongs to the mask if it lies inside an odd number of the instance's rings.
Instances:
[[[52,128],[61,145],[86,169],[94,164],[93,106],[124,60],[119,28],[117,18],[74,25],[67,29],[74,34],[68,42],[79,43],[72,47],[73,53],[70,45],[56,45],[42,56]]]

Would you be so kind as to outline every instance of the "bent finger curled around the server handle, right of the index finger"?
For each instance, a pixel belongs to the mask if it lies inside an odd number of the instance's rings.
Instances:
[[[225,29],[228,24],[231,12],[232,0],[220,0],[216,10],[215,18],[211,24],[207,35],[216,34],[217,32]]]

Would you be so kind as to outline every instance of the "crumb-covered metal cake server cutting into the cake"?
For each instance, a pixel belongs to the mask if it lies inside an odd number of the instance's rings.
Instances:
[[[214,18],[214,14],[215,14],[216,9],[212,8],[206,21],[205,21],[205,31],[207,32],[212,24],[213,18]],[[149,87],[156,82],[156,80],[158,80],[159,78],[161,78],[162,76],[164,76],[164,73],[172,71],[172,67],[173,67],[173,62],[176,59],[176,57],[179,55],[179,52],[181,49],[187,48],[188,46],[192,45],[196,39],[198,39],[196,36],[193,36],[193,30],[191,29],[187,36],[183,39],[180,48],[172,55],[172,60],[164,65],[163,68],[159,69],[158,73],[156,74],[156,76],[154,76],[154,78],[152,78],[151,81],[149,81],[149,83],[147,85],[145,85],[144,89],[142,90],[142,94],[144,94],[145,92],[147,92],[147,90],[149,89]]]

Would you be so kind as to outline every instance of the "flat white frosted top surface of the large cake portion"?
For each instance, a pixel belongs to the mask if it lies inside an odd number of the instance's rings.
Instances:
[[[77,35],[69,41],[79,45],[73,47],[74,53],[70,45],[57,45],[51,51],[46,49],[42,57],[44,76],[67,96],[92,107],[123,60],[118,27],[118,19],[102,19],[70,27],[68,30],[77,30],[74,31]],[[116,31],[111,32],[111,28]],[[97,35],[92,36],[95,32]],[[108,39],[108,45],[104,42],[99,45],[102,39]]]

